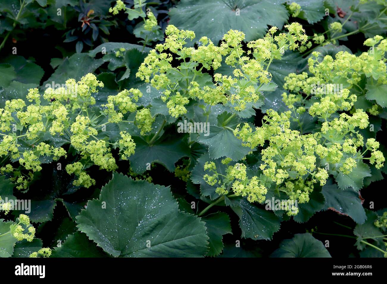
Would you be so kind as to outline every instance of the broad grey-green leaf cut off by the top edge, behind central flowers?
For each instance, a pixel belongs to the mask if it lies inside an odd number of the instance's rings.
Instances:
[[[192,30],[196,41],[207,36],[217,44],[230,29],[243,31],[246,41],[265,35],[267,26],[279,29],[288,19],[283,0],[182,0],[170,10],[170,24]],[[238,10],[239,9],[239,10]],[[214,13],[216,12],[216,13]]]

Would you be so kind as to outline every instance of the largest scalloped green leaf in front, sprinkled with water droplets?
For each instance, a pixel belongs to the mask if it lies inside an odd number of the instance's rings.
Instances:
[[[105,208],[106,206],[106,208]],[[77,216],[77,227],[115,257],[200,257],[204,222],[181,213],[170,190],[121,173]]]

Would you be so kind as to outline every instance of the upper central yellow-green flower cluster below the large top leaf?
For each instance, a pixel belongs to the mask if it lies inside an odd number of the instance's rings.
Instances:
[[[187,47],[187,39],[194,39],[192,31],[166,27],[164,44],[157,44],[141,64],[136,76],[161,90],[169,114],[175,118],[187,113],[190,100],[203,100],[208,109],[212,105],[229,104],[236,112],[259,100],[259,89],[271,82],[268,71],[272,60],[281,59],[288,49],[294,50],[307,41],[302,26],[287,25],[288,33],[275,36],[272,27],[263,39],[247,43],[242,49],[245,34],[228,31],[220,46],[207,37],[199,39],[197,48]],[[233,68],[232,76],[215,73],[210,83],[205,71],[217,70],[222,62]],[[178,62],[178,63],[176,63]]]

